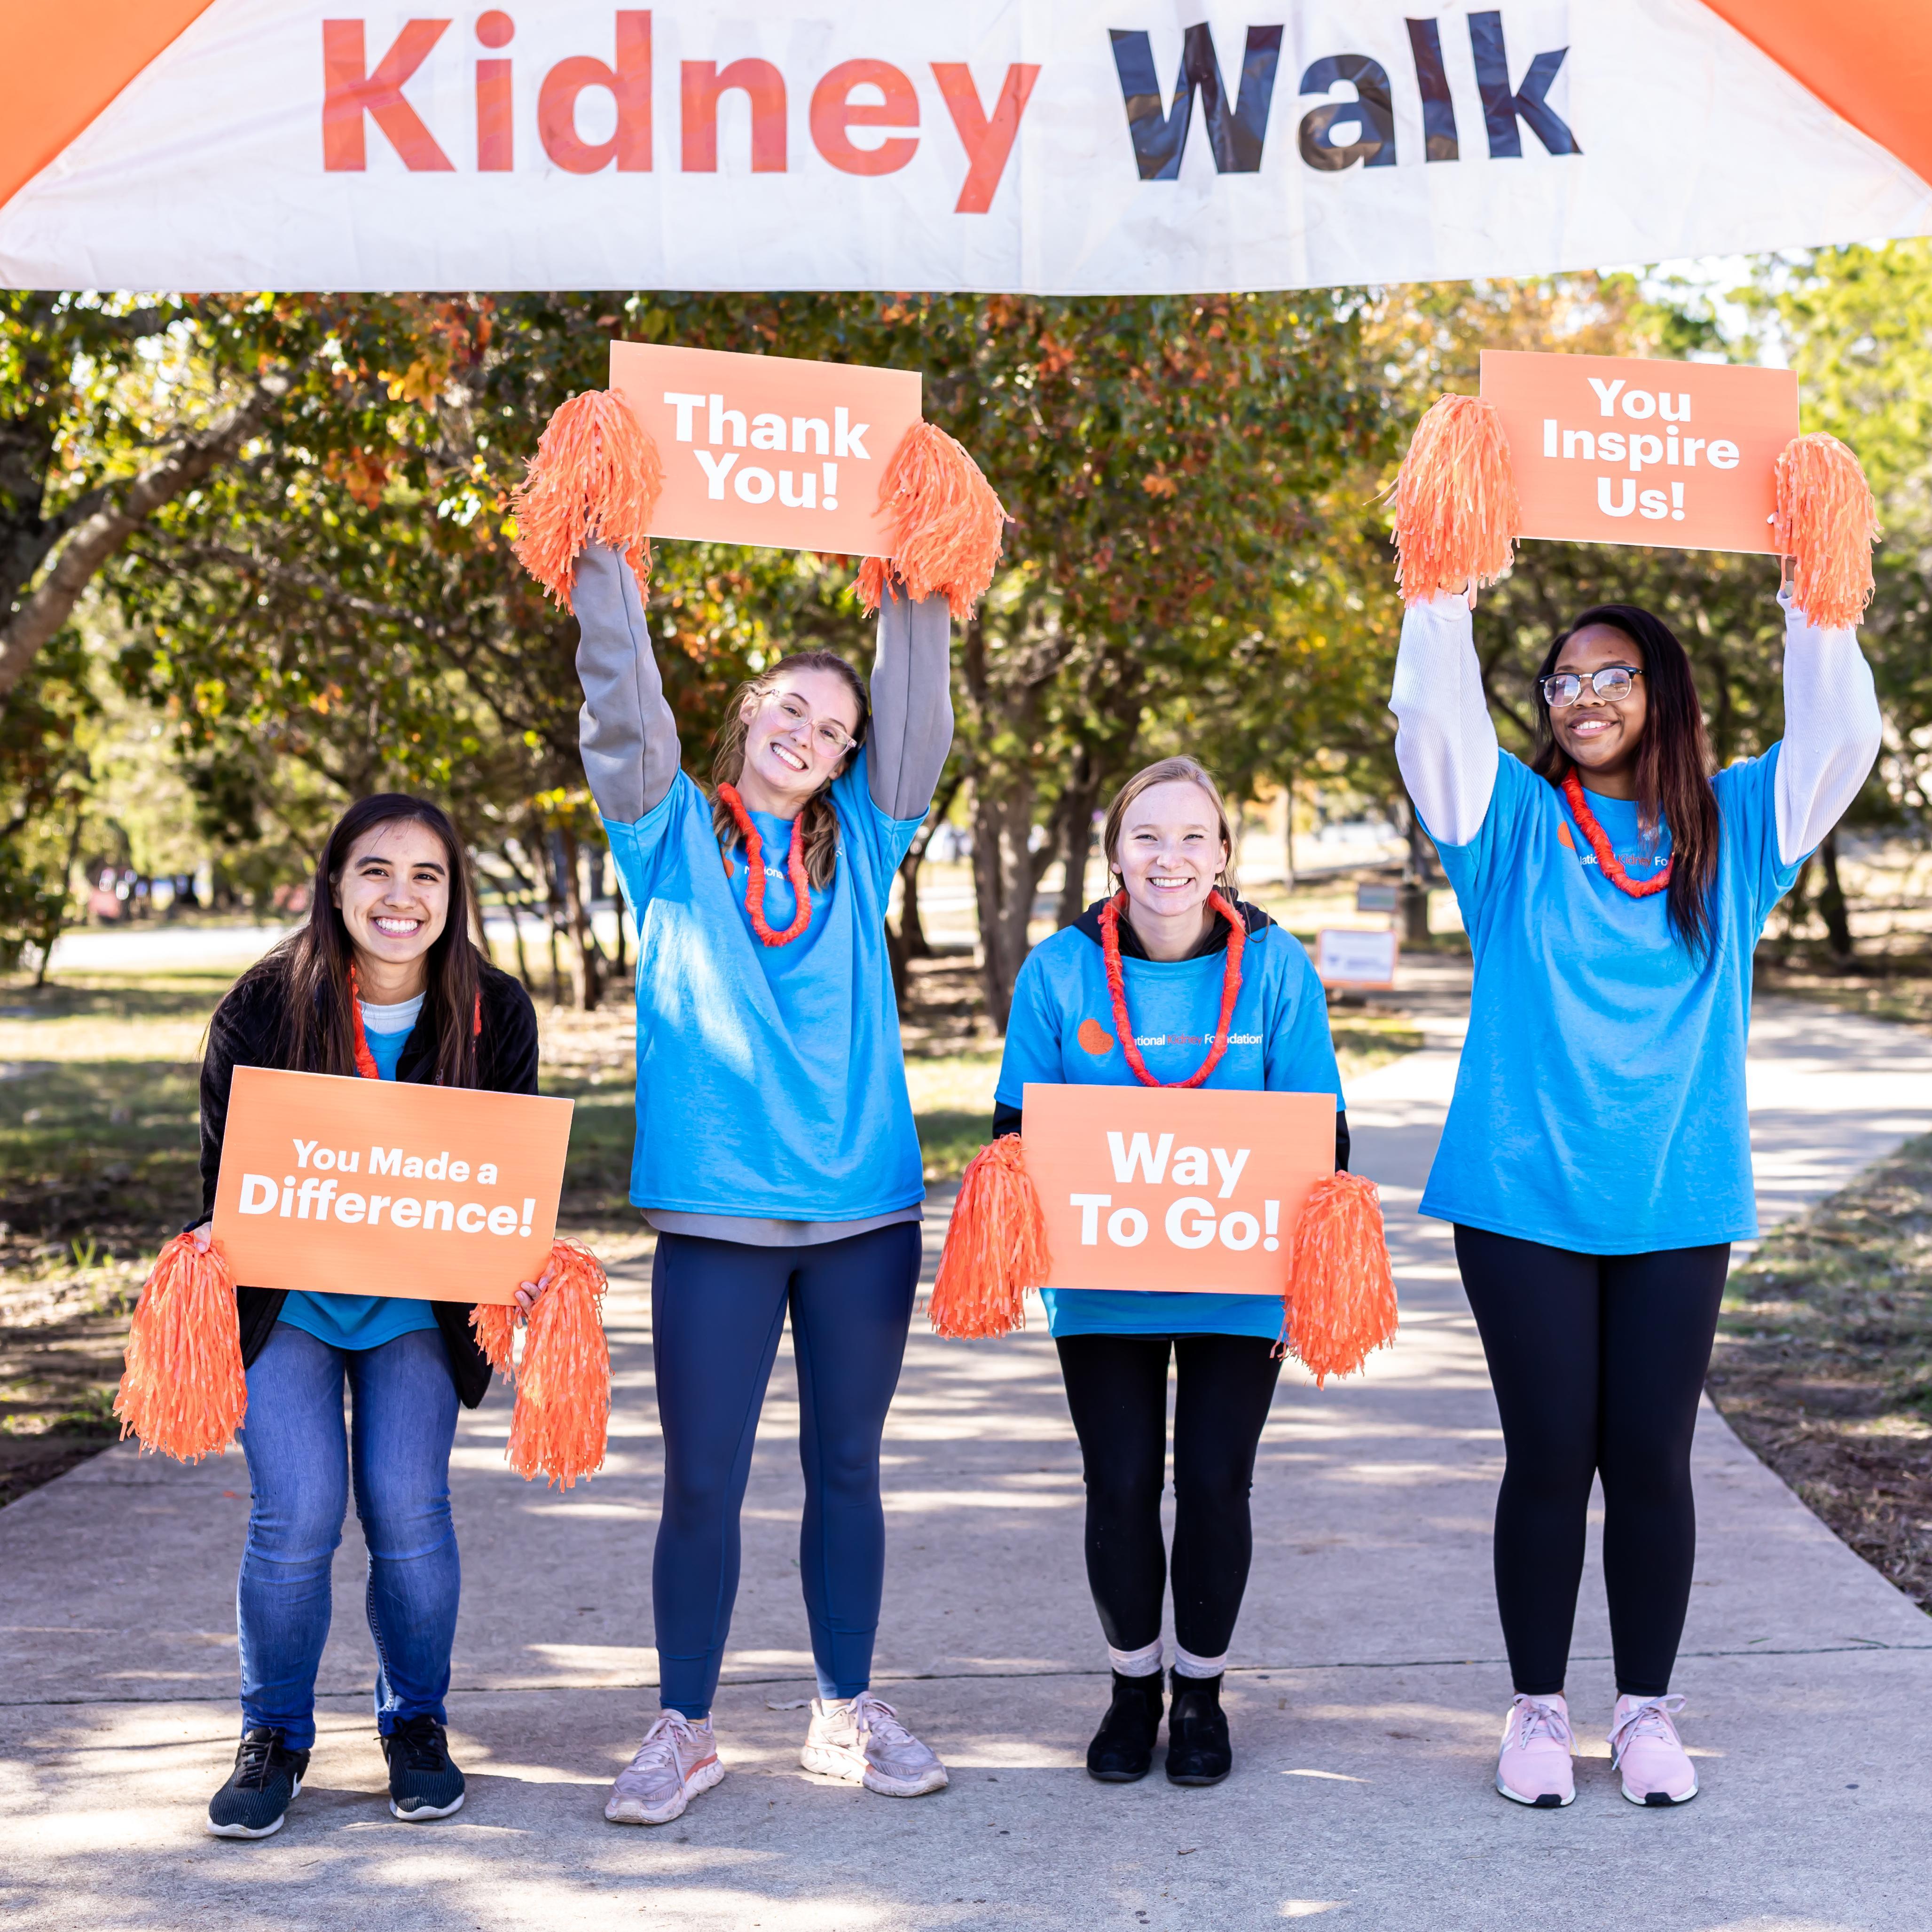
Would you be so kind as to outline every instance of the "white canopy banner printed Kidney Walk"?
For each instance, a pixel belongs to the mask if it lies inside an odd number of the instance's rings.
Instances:
[[[1928,230],[1700,0],[213,0],[0,207],[0,282],[1128,294]]]

